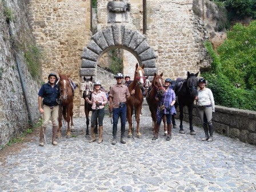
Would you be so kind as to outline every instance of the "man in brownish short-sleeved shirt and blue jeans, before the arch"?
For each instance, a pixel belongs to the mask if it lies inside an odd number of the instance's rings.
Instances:
[[[115,75],[117,84],[110,87],[109,93],[109,110],[113,112],[113,141],[112,145],[117,143],[117,123],[120,117],[121,119],[121,143],[126,143],[125,137],[125,122],[126,122],[126,100],[135,93],[132,90],[131,93],[127,86],[123,85],[123,74],[118,73]]]

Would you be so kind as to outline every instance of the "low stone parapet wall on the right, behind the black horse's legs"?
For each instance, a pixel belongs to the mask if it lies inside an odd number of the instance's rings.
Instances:
[[[189,122],[189,111],[184,108],[184,120]],[[177,113],[176,118],[179,118]],[[193,110],[193,124],[202,127],[197,108]],[[256,111],[215,106],[213,126],[217,133],[256,145]],[[202,131],[202,130],[198,130]]]

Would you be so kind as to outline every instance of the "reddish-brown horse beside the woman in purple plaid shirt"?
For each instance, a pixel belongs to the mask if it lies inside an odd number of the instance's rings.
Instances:
[[[149,91],[146,95],[146,101],[147,105],[149,105],[149,110],[151,113],[151,118],[153,121],[153,131],[155,133],[155,125],[157,123],[157,108],[158,108],[158,101],[155,99],[155,95],[158,95],[161,97],[163,94],[165,94],[165,87],[163,87],[163,73],[160,75],[154,73],[154,77],[151,82],[151,86],[149,88]],[[163,118],[163,129],[165,130],[165,136],[167,136],[167,126],[166,126],[166,117]]]

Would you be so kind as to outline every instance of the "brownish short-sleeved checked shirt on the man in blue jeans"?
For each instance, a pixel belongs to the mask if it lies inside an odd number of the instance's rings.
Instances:
[[[118,108],[119,103],[126,102],[126,98],[130,95],[126,85],[113,85],[110,87],[109,97],[112,97],[113,108]]]

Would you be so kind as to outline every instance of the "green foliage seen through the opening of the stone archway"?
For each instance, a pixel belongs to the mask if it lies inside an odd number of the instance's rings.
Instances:
[[[120,73],[123,70],[123,61],[119,57],[120,55],[120,50],[119,49],[113,49],[109,51],[110,53],[110,58],[111,58],[111,63],[110,63],[110,71],[113,74]]]

